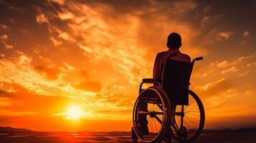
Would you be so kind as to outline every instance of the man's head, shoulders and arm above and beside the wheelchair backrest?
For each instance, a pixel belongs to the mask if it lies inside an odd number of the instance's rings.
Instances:
[[[153,66],[153,79],[157,79],[157,81],[161,81],[163,65],[166,61],[167,56],[169,56],[170,54],[176,54],[176,56],[171,57],[171,59],[177,61],[191,61],[188,55],[183,54],[181,53],[181,51],[179,51],[179,48],[181,47],[181,36],[179,34],[169,34],[166,46],[168,47],[168,50],[161,51],[156,55],[155,64]]]

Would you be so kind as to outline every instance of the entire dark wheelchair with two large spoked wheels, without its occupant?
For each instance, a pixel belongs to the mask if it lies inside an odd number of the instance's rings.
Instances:
[[[204,129],[204,106],[189,89],[194,61],[171,59],[163,66],[161,81],[143,79],[133,107],[133,142],[194,142]],[[143,84],[153,86],[142,89]]]

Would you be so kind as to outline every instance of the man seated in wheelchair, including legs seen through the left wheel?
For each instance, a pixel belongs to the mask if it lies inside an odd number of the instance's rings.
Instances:
[[[176,33],[171,33],[168,36],[166,46],[169,48],[167,51],[161,51],[156,55],[155,63],[153,66],[153,79],[156,79],[158,82],[161,82],[161,75],[163,71],[163,65],[164,62],[166,61],[166,58],[170,54],[176,54],[176,56],[171,57],[171,59],[174,59],[176,61],[187,61],[191,62],[191,59],[188,55],[181,53],[179,51],[179,48],[181,47],[181,36]],[[147,104],[141,104],[139,107],[141,108],[141,111],[147,111]],[[175,111],[176,106],[172,105],[171,109]],[[145,115],[140,115],[138,118],[138,122],[140,124],[140,130],[141,134],[148,134],[148,121],[146,119],[146,114]]]

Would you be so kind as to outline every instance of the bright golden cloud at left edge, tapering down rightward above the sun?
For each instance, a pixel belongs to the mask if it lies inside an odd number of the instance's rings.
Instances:
[[[19,84],[24,89],[46,96],[92,95],[92,92],[77,91],[67,82],[57,79],[59,73],[60,69],[56,66],[32,65],[32,58],[22,51],[16,51],[12,58],[0,59],[0,82],[10,84],[11,87]]]

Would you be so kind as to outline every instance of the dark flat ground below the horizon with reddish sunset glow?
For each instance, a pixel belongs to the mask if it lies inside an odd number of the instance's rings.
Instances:
[[[0,142],[131,142],[129,133],[123,132],[28,132],[28,133],[0,133]],[[175,142],[175,141],[173,141]],[[201,134],[196,142],[242,143],[256,142],[255,133],[211,133]]]

